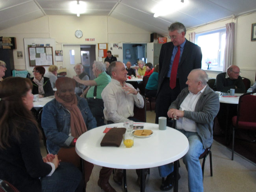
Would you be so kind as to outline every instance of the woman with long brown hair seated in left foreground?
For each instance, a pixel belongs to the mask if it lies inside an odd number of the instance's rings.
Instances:
[[[32,83],[9,77],[0,83],[0,178],[20,192],[80,192],[82,174],[58,155],[41,156],[33,118]]]

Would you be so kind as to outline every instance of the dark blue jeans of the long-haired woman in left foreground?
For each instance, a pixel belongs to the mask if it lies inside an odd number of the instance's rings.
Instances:
[[[75,192],[83,189],[82,173],[73,164],[60,162],[51,176],[41,178],[42,192]]]

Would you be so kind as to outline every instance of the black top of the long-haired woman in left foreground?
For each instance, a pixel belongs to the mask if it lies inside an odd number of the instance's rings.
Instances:
[[[48,175],[52,167],[43,162],[37,127],[24,123],[20,143],[10,138],[10,147],[0,149],[0,178],[14,185],[20,192],[41,192],[39,177]]]

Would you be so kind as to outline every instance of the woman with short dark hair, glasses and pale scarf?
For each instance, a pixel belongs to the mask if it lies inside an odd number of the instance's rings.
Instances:
[[[36,66],[33,70],[34,77],[31,78],[33,94],[39,94],[39,98],[54,95],[50,79],[44,77],[45,68],[43,66]]]

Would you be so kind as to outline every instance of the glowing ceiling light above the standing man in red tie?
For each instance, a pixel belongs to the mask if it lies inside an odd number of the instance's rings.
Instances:
[[[188,5],[188,0],[163,0],[152,9],[154,17],[168,15]]]

